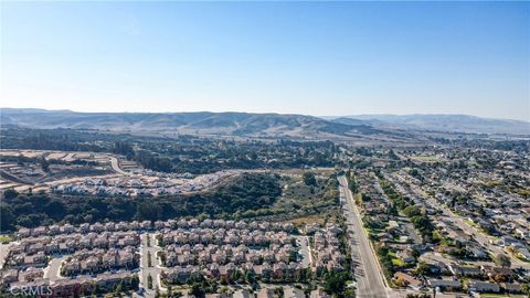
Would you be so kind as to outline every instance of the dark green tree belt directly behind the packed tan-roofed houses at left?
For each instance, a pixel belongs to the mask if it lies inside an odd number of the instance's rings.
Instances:
[[[234,213],[272,205],[280,195],[279,177],[245,173],[211,192],[157,198],[104,198],[47,193],[2,193],[2,231],[68,222],[169,220],[178,216],[232,219]]]

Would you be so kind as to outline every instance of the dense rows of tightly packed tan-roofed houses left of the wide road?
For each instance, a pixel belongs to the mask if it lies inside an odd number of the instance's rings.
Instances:
[[[20,228],[15,242],[2,246],[8,253],[1,281],[8,288],[46,286],[52,297],[113,292],[118,285],[119,290],[138,292],[152,291],[156,285],[157,291],[167,292],[199,276],[220,285],[243,279],[282,288],[284,283],[305,284],[327,272],[342,272],[341,234],[331,223],[300,231],[290,223],[195,219]],[[237,288],[230,292],[225,295],[254,297]],[[278,290],[256,295],[277,297]],[[290,287],[282,295],[305,297]],[[329,297],[321,290],[311,295]]]

